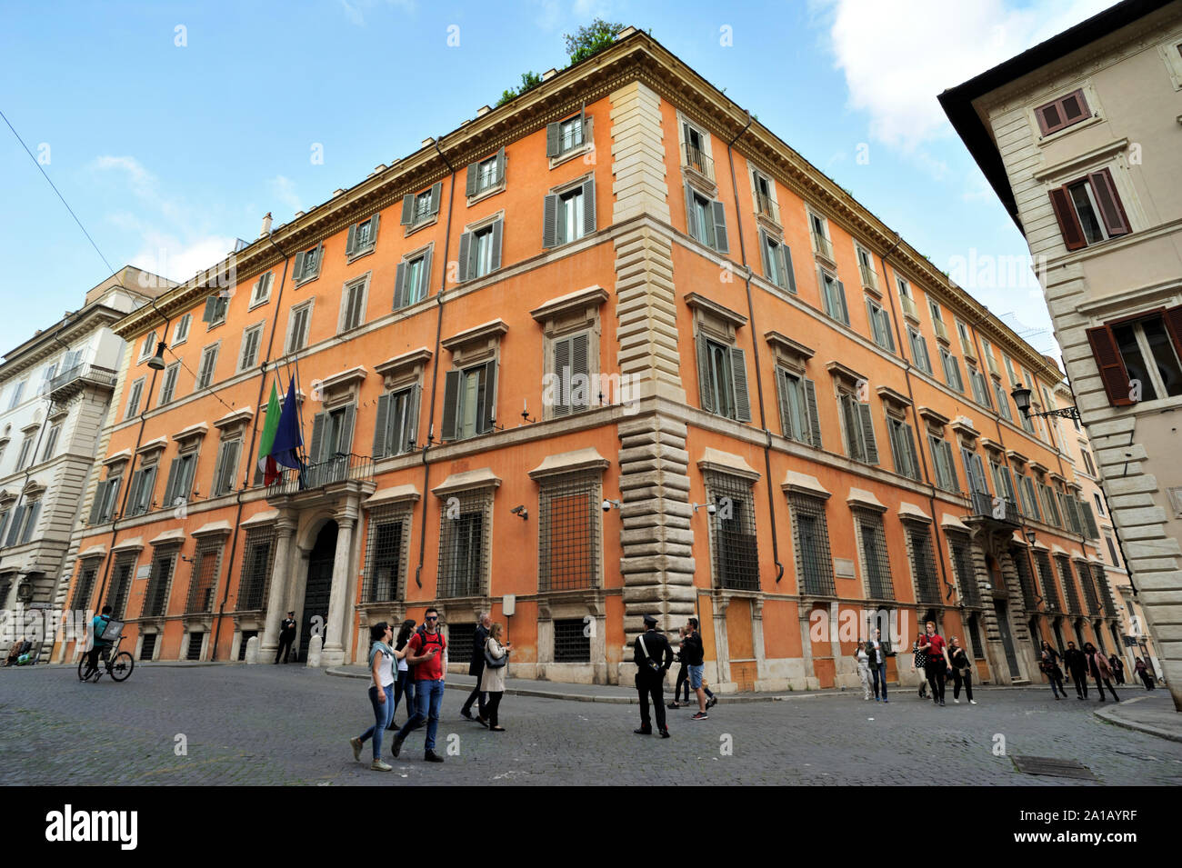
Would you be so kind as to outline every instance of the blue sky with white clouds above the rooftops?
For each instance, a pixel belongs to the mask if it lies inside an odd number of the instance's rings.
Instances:
[[[474,117],[524,71],[561,68],[563,33],[602,15],[651,28],[994,313],[1050,329],[1033,278],[965,273],[1027,249],[936,94],[1108,5],[7,5],[0,111],[112,267],[183,280],[235,237],[254,239],[265,213],[287,222]],[[4,125],[0,202],[4,352],[78,308],[110,270]],[[1030,339],[1058,354],[1050,331]]]

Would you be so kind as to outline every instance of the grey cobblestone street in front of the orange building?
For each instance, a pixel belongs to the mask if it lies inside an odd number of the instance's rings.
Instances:
[[[1011,756],[1078,759],[1102,784],[1182,783],[1182,744],[1097,719],[1097,703],[1046,690],[949,690],[944,709],[901,691],[886,706],[849,692],[727,704],[710,718],[669,711],[673,738],[632,735],[635,705],[506,696],[494,733],[460,718],[448,690],[437,750],[413,733],[392,774],[355,763],[348,739],[370,720],[365,683],[273,666],[137,666],[113,684],[72,668],[0,672],[0,784],[1030,784],[1077,783],[1015,771]],[[1165,709],[1168,693],[1123,699]],[[397,720],[405,719],[402,707]],[[994,756],[995,736],[1009,756]],[[177,756],[177,736],[187,756]],[[392,733],[391,733],[392,735]],[[730,748],[728,751],[727,748]],[[389,742],[383,753],[388,756]],[[456,752],[457,751],[457,752]]]

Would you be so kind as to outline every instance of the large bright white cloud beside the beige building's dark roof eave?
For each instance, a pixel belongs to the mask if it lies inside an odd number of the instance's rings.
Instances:
[[[936,96],[1095,15],[1112,0],[817,0],[849,106],[913,151],[949,135]]]

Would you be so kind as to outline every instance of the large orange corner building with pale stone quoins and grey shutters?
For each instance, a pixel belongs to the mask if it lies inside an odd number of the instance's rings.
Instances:
[[[629,681],[648,613],[700,618],[721,690],[852,685],[877,613],[907,683],[927,618],[993,683],[1069,621],[1113,645],[1071,466],[1008,397],[1060,372],[639,32],[118,331],[61,605],[139,659],[269,661],[294,611],[300,660],[352,663],[428,605],[454,670],[489,611],[564,681]],[[307,465],[268,487],[290,378]]]

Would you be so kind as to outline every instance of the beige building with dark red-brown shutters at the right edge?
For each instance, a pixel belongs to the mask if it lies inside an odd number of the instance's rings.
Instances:
[[[1038,263],[1129,629],[1182,710],[1182,2],[1118,4],[940,99]]]

